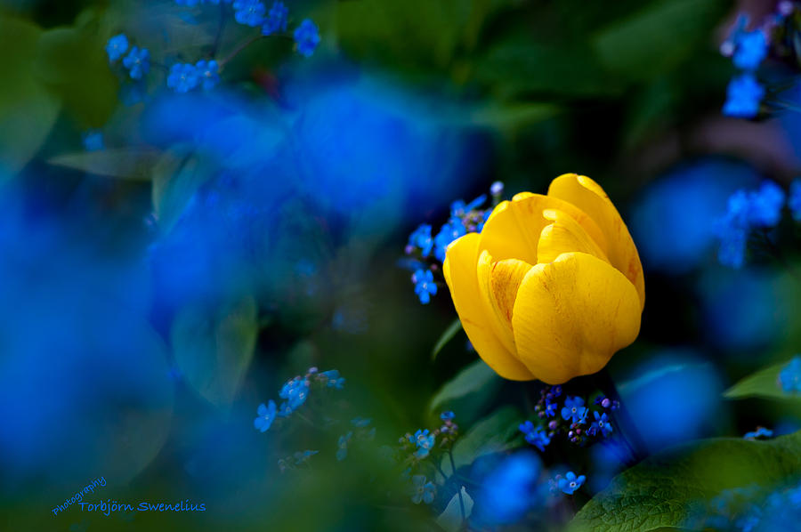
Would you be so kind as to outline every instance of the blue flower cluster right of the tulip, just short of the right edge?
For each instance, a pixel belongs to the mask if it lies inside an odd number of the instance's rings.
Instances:
[[[769,230],[780,222],[784,190],[764,181],[757,190],[738,190],[726,204],[726,213],[715,223],[720,239],[717,259],[724,266],[740,268],[745,262],[748,235],[752,230]]]

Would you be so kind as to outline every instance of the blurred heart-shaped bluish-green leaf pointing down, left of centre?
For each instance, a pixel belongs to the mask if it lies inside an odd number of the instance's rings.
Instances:
[[[192,388],[217,407],[231,404],[250,366],[258,321],[253,297],[218,310],[189,305],[174,319],[175,362]]]

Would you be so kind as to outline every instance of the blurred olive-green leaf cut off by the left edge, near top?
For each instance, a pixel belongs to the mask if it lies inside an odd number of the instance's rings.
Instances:
[[[36,155],[61,108],[33,69],[41,34],[33,24],[0,15],[0,166],[12,173]]]

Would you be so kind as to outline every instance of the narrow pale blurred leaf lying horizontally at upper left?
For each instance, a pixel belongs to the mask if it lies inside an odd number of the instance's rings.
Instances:
[[[149,180],[161,157],[157,149],[120,148],[66,153],[48,162],[106,177]]]

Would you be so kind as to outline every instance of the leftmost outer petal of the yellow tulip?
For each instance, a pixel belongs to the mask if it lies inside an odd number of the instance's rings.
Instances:
[[[512,381],[530,381],[534,375],[506,349],[493,330],[491,317],[479,290],[478,233],[458,238],[446,252],[442,272],[462,327],[475,351],[498,375]]]

